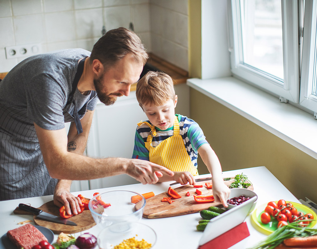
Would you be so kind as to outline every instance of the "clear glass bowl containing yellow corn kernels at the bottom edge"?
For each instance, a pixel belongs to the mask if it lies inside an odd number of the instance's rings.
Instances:
[[[123,243],[129,245],[129,242],[143,244],[139,247],[134,245],[135,248],[149,249],[155,245],[156,233],[151,227],[139,222],[119,222],[102,229],[97,237],[100,249],[113,249]],[[132,245],[130,247],[133,248]],[[118,248],[121,247],[118,246]]]

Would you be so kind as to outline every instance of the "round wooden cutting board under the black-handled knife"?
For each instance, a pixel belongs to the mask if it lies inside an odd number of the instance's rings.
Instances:
[[[59,216],[59,208],[54,205],[53,201],[44,203],[38,209],[43,210],[43,212]],[[30,215],[32,213],[19,209],[18,207],[13,211],[16,215]],[[34,215],[34,222],[38,226],[49,228],[55,234],[60,233],[78,233],[84,230],[87,230],[96,225],[93,216],[91,215],[90,210],[84,210],[79,215],[74,215],[68,218],[69,221],[73,221],[77,226],[69,226],[64,224],[59,224],[51,221],[42,220]]]

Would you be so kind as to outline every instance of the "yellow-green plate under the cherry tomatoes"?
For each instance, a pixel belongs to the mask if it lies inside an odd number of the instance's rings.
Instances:
[[[275,201],[275,202],[277,203],[277,201]],[[291,202],[291,203],[298,211],[301,211],[304,214],[311,213],[312,215],[314,215],[314,219],[317,218],[316,213],[312,209],[310,209],[310,208],[308,208],[300,203],[297,203],[297,202]],[[262,213],[264,213],[264,209],[267,205],[268,205],[268,202],[261,204],[257,209],[255,209],[252,213],[251,221],[252,221],[252,225],[259,232],[265,233],[265,234],[270,234],[276,230],[278,221],[276,219],[272,218],[272,216],[271,216],[271,221],[268,222],[268,224],[263,224],[261,222],[261,215],[262,215]],[[313,228],[316,225],[316,222],[317,221],[310,222],[307,227]]]

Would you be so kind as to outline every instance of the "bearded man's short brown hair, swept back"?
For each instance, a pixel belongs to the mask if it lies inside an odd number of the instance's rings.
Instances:
[[[148,55],[139,36],[127,28],[116,28],[109,30],[95,43],[90,61],[92,63],[98,59],[107,69],[129,53],[133,53],[135,59],[145,65]]]

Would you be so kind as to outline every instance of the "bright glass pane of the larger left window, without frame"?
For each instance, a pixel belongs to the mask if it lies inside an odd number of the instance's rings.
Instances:
[[[283,79],[281,0],[240,1],[243,63]]]

